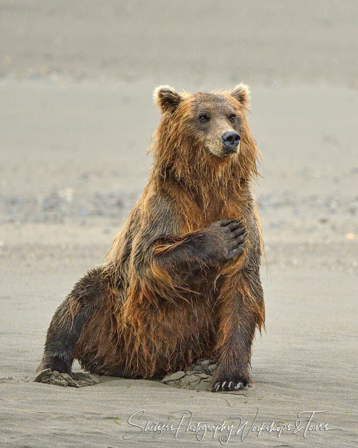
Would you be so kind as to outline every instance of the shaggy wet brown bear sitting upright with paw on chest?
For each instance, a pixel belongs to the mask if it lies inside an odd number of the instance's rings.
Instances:
[[[148,183],[104,263],[56,310],[38,370],[70,373],[77,359],[91,373],[162,378],[207,357],[213,391],[240,389],[264,325],[249,89],[154,97]]]

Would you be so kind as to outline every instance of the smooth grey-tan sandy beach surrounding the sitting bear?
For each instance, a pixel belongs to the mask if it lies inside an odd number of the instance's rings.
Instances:
[[[356,446],[356,3],[88,5],[0,2],[0,447]],[[146,184],[154,88],[238,81],[262,153],[255,387],[26,382],[55,308]],[[179,429],[141,433],[146,421]],[[234,427],[203,434],[196,422]],[[252,430],[263,422],[276,431]]]

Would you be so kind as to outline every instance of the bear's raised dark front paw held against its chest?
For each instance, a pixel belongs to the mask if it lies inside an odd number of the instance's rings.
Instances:
[[[221,262],[235,260],[244,253],[247,232],[246,226],[243,226],[243,221],[221,219],[213,222],[209,227],[215,229],[222,237]]]

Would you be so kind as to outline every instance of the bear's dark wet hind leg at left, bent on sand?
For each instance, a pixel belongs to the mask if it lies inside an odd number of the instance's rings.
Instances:
[[[37,372],[51,369],[70,373],[73,349],[82,327],[90,319],[99,299],[105,299],[108,279],[102,268],[92,269],[73,287],[55,311],[47,330],[45,351]]]

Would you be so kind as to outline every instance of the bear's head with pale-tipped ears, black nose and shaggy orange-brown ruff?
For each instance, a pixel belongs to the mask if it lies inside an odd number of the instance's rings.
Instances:
[[[152,148],[155,166],[184,181],[198,175],[214,182],[217,176],[250,180],[257,174],[258,151],[246,118],[249,98],[242,83],[231,91],[195,94],[158,87],[154,99],[162,117]]]

